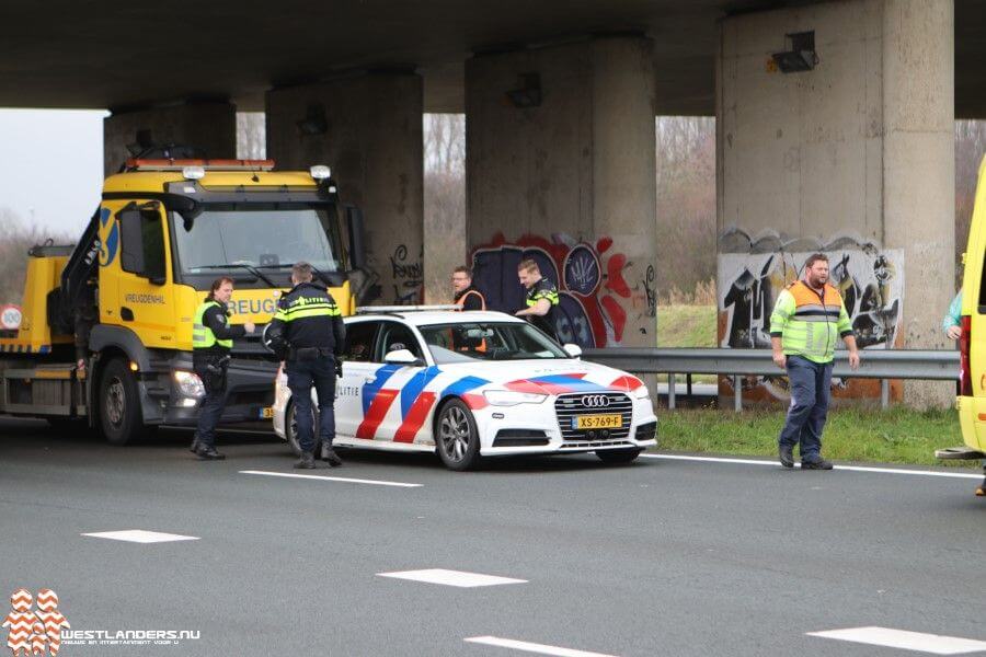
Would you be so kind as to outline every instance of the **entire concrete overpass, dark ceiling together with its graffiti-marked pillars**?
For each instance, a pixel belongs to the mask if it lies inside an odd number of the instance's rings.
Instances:
[[[421,115],[465,112],[462,257],[507,304],[535,256],[586,346],[655,343],[655,244],[674,235],[654,116],[714,115],[722,344],[761,346],[773,295],[824,250],[869,346],[943,346],[952,124],[986,117],[984,2],[53,0],[3,18],[0,106],[110,108],[107,171],[140,135],[231,157],[236,111],[264,110],[268,157],[332,164],[365,208],[388,302],[420,293],[428,261]],[[786,74],[771,54],[800,32],[816,66]]]

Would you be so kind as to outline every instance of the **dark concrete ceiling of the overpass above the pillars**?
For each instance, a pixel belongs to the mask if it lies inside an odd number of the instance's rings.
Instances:
[[[273,87],[366,68],[417,68],[427,112],[465,110],[463,61],[635,32],[654,41],[656,111],[714,114],[716,22],[813,0],[546,0],[459,2],[215,0],[7,3],[0,24],[0,106],[126,108],[188,97],[263,108]],[[955,3],[955,107],[986,116],[986,3]],[[783,45],[779,36],[778,48]]]

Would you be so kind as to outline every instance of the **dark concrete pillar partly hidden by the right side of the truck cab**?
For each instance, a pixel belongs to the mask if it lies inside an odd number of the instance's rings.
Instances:
[[[267,92],[267,157],[280,169],[328,164],[363,209],[371,279],[364,302],[422,299],[422,79],[374,72]]]

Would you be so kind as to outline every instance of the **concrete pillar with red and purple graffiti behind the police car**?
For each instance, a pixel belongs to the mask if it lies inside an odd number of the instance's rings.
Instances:
[[[654,80],[641,36],[467,61],[467,234],[493,308],[523,307],[530,256],[562,292],[565,342],[656,344]]]

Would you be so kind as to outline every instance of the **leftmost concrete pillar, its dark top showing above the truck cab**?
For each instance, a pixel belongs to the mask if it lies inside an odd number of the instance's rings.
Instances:
[[[222,101],[188,102],[147,110],[122,110],[103,119],[105,175],[130,158],[130,145],[182,145],[208,158],[237,157],[237,108]]]

